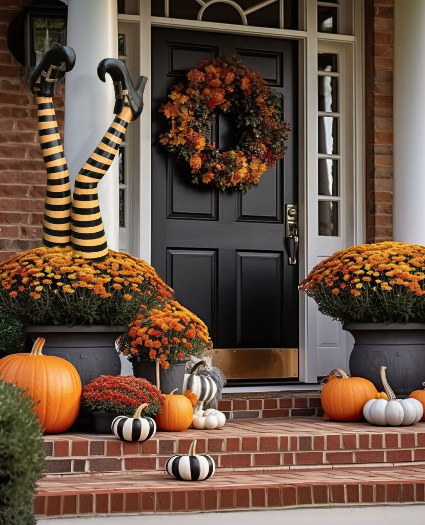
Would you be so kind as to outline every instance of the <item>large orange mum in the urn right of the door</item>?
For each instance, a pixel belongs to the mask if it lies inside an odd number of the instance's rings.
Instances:
[[[425,320],[425,247],[361,244],[321,261],[300,290],[343,323]]]

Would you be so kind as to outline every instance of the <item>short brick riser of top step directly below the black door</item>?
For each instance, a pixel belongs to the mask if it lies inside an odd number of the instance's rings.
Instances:
[[[317,390],[225,392],[218,408],[226,414],[227,419],[323,416]]]

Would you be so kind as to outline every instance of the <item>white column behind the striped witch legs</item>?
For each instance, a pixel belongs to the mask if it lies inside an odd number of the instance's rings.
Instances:
[[[69,0],[67,45],[76,64],[66,76],[65,155],[71,185],[114,118],[112,79],[97,75],[103,58],[118,58],[116,0]],[[108,246],[118,250],[118,159],[99,182],[99,202]]]

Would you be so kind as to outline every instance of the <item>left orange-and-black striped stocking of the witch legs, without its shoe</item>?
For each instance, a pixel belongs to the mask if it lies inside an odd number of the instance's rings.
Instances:
[[[49,247],[65,246],[71,242],[71,190],[68,166],[52,98],[37,97],[37,106],[38,138],[47,172],[42,243]]]

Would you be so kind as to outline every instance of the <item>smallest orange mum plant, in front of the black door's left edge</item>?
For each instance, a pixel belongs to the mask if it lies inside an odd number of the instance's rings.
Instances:
[[[129,361],[158,361],[164,369],[169,363],[202,355],[211,344],[206,324],[177,301],[146,316],[140,314],[118,340]]]

